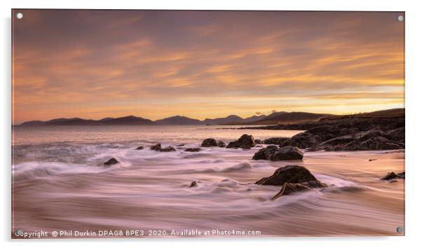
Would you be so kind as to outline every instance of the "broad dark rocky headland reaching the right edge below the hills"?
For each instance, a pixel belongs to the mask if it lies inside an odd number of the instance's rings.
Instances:
[[[245,129],[245,128],[242,128]],[[371,117],[367,115],[323,118],[319,121],[297,124],[280,124],[248,129],[306,130],[280,146],[297,146],[306,151],[362,151],[404,149],[403,116]],[[271,142],[278,142],[272,140]]]

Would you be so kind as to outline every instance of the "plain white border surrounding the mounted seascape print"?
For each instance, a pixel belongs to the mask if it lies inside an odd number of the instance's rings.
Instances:
[[[86,1],[86,0],[37,0],[1,1],[1,242],[6,247],[74,247],[75,245],[125,247],[154,245],[162,247],[215,247],[216,245],[241,245],[242,247],[407,247],[418,242],[421,230],[421,4],[418,1],[367,1],[367,0],[156,0],[156,1]],[[405,237],[280,237],[280,238],[194,238],[155,240],[10,240],[11,235],[11,8],[102,8],[102,9],[207,9],[207,10],[281,10],[281,11],[406,11],[406,236]],[[357,206],[358,207],[358,206]]]

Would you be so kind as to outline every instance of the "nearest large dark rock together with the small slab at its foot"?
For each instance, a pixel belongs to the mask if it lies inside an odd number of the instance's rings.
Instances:
[[[327,187],[327,184],[318,181],[308,169],[299,165],[287,165],[278,168],[270,177],[261,178],[255,184],[282,186],[281,190],[271,200],[297,191]]]

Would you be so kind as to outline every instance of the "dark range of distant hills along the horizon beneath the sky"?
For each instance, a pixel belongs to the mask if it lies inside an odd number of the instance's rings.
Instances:
[[[385,111],[375,111],[370,113],[359,113],[356,116],[384,116],[404,114],[404,109],[388,109]],[[205,118],[198,120],[186,116],[171,116],[160,120],[149,120],[137,116],[124,116],[119,118],[102,118],[100,120],[90,120],[83,118],[57,118],[53,120],[31,120],[20,124],[21,126],[41,126],[41,125],[273,125],[273,124],[293,124],[320,120],[321,118],[341,118],[328,113],[308,113],[308,112],[274,112],[260,116],[250,116],[241,118],[240,116],[230,115],[223,118]]]

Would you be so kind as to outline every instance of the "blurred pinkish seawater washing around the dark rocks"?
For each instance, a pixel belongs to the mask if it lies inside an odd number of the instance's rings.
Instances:
[[[197,147],[301,131],[219,126],[40,127],[13,130],[13,230],[258,230],[261,235],[399,235],[404,181],[379,177],[404,170],[403,151],[313,152],[303,161],[251,160],[259,147],[198,153],[135,150]],[[233,128],[233,126],[230,126]],[[104,168],[104,161],[119,163]],[[369,159],[376,159],[369,162]],[[304,165],[324,191],[269,199],[279,186],[254,181],[284,165]],[[198,186],[189,188],[191,181]],[[402,234],[400,234],[402,235]]]

